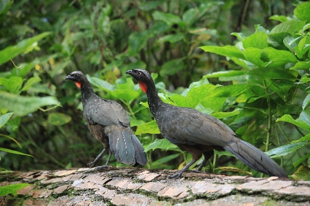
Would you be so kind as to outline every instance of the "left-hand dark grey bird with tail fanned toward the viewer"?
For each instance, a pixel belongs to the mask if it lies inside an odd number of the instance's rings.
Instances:
[[[88,166],[93,167],[106,150],[109,153],[108,159],[106,165],[101,167],[108,166],[112,154],[119,163],[125,165],[136,165],[136,163],[146,165],[144,148],[130,129],[130,120],[122,105],[97,96],[82,72],[72,72],[66,76],[66,79],[74,81],[81,89],[83,116],[88,129],[104,145],[104,150],[95,158],[95,161],[88,163]]]

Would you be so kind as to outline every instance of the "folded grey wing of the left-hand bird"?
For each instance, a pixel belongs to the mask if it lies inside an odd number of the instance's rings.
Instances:
[[[122,125],[128,127],[128,114],[119,103],[106,99],[95,99],[84,108],[84,118],[90,123],[101,125]]]

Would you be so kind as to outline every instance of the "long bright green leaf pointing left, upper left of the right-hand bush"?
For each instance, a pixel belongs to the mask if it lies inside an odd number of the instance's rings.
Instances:
[[[204,52],[213,52],[222,56],[229,56],[246,60],[242,52],[238,50],[238,48],[236,48],[234,45],[224,45],[223,47],[215,45],[205,45],[200,47],[200,49],[204,50]]]

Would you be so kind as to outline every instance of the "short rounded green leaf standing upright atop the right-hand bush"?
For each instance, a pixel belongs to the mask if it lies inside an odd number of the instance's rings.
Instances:
[[[243,41],[243,47],[246,48],[258,48],[264,49],[267,48],[267,34],[264,32],[255,32],[249,37],[246,37]]]

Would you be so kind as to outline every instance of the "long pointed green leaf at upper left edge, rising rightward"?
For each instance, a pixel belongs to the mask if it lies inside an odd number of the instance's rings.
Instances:
[[[35,42],[43,39],[48,36],[50,32],[43,32],[35,37],[19,41],[17,45],[8,46],[4,50],[0,51],[0,65],[6,63],[10,59],[13,59],[15,56],[21,54],[28,50],[28,48]]]

